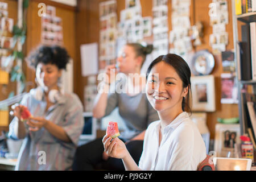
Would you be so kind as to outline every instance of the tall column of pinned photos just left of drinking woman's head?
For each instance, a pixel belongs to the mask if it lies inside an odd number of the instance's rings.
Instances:
[[[100,3],[100,73],[110,64],[115,64],[115,42],[117,39],[117,2]]]

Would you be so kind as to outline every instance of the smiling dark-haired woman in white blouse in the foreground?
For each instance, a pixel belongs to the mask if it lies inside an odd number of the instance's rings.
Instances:
[[[167,54],[152,61],[146,95],[160,120],[147,127],[139,166],[118,138],[110,142],[105,135],[105,152],[122,159],[126,170],[196,170],[207,154],[197,126],[185,111],[189,108],[190,77],[187,63],[178,55]]]

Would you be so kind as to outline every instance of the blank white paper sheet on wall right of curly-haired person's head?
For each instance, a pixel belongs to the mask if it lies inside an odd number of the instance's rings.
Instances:
[[[98,44],[82,44],[81,67],[82,76],[97,75],[98,73]]]

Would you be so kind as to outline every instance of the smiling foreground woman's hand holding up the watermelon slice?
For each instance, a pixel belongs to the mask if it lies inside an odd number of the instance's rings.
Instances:
[[[123,159],[129,154],[125,143],[118,137],[112,140],[112,137],[105,135],[102,139],[102,143],[104,143],[104,151],[112,158]]]

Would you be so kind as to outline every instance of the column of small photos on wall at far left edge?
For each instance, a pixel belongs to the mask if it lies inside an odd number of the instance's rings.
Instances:
[[[13,46],[13,25],[14,19],[9,18],[8,4],[0,2],[0,61],[1,69],[11,71],[13,61],[7,59],[11,55]]]

